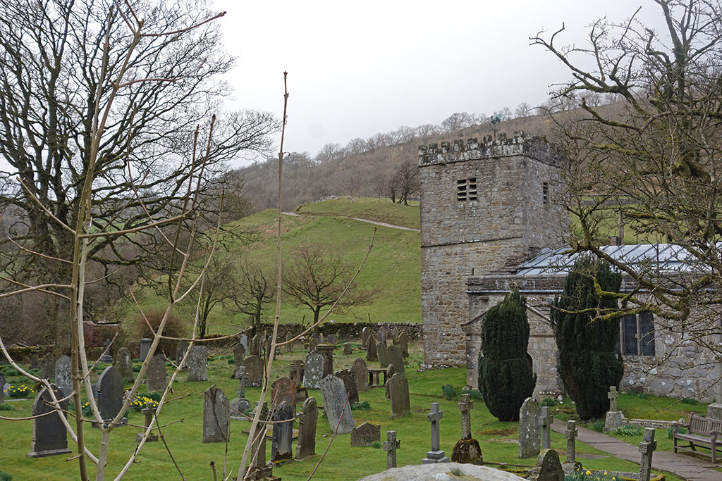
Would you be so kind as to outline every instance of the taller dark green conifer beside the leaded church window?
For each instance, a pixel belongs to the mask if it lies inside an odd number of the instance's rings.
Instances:
[[[575,262],[562,296],[552,306],[559,374],[583,420],[600,418],[609,410],[606,394],[610,386],[619,386],[624,374],[622,356],[614,353],[619,319],[597,315],[618,309],[612,293],[619,292],[621,284],[622,275],[612,272],[609,264],[583,256]]]

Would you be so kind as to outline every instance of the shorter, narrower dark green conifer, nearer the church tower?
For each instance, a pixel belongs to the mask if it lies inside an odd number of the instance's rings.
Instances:
[[[500,421],[518,420],[519,408],[534,392],[536,374],[526,358],[528,344],[526,298],[514,289],[482,319],[479,392]]]

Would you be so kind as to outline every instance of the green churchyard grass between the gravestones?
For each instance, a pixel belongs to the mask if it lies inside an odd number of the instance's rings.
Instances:
[[[341,350],[334,351],[334,369],[342,369],[350,366],[355,358],[362,357],[363,351],[359,343],[352,343],[354,352],[350,356],[344,356]],[[214,461],[220,473],[224,470],[225,444],[203,444],[203,392],[212,384],[217,384],[223,389],[227,397],[235,397],[238,381],[230,379],[233,371],[232,353],[214,353],[209,358],[209,381],[186,382],[186,372],[182,372],[174,384],[174,393],[170,399],[179,398],[165,406],[160,415],[161,423],[170,423],[182,419],[182,423],[175,423],[162,428],[166,441],[170,446],[173,456],[178,462],[183,475],[188,480],[212,479],[212,472],[209,463]],[[274,379],[279,376],[287,376],[290,363],[293,359],[303,358],[305,352],[297,349],[293,353],[282,352],[277,361],[274,362]],[[415,372],[415,367],[422,359],[422,352],[419,343],[411,346],[411,357],[407,367],[409,377],[409,391],[412,407],[412,414],[404,418],[391,419],[391,405],[384,399],[384,389],[370,389],[367,392],[360,392],[360,400],[370,402],[370,410],[354,410],[356,424],[364,421],[381,425],[381,440],[386,439],[386,431],[395,430],[401,440],[401,447],[397,451],[398,466],[406,464],[419,464],[430,449],[430,423],[426,420],[427,412],[430,410],[431,402],[439,402],[440,408],[444,411],[444,418],[441,420],[441,449],[445,450],[447,456],[451,456],[451,449],[458,441],[461,433],[461,416],[458,412],[458,399],[446,400],[443,397],[441,386],[452,384],[461,387],[465,382],[463,368],[452,368],[435,371]],[[230,363],[229,363],[230,361]],[[170,375],[171,368],[167,367]],[[95,370],[95,376],[100,370]],[[8,381],[12,384],[19,382],[20,378],[11,377]],[[95,381],[95,379],[94,379]],[[257,400],[260,388],[246,388],[246,397]],[[321,391],[310,389],[310,396],[323,405]],[[631,399],[631,396],[622,394],[619,397],[622,409],[627,409],[627,401],[643,405],[645,400],[639,398]],[[669,400],[667,401],[669,403]],[[17,409],[4,414],[13,417],[21,417],[30,414],[32,400],[12,401]],[[685,408],[687,405],[683,405]],[[299,405],[300,408],[300,405]],[[552,409],[553,411],[553,409]],[[559,413],[556,413],[559,417]],[[676,415],[674,417],[677,417]],[[142,425],[144,416],[139,412],[129,412],[129,422]],[[29,459],[25,457],[30,450],[30,437],[32,426],[30,421],[9,422],[1,421],[0,442],[3,449],[0,452],[0,469],[9,472],[15,480],[43,479],[43,480],[69,480],[76,477],[76,464],[66,462],[69,456],[51,456],[41,459]],[[244,421],[231,421],[230,444],[228,446],[227,471],[238,471],[238,462],[245,445],[246,435],[241,433],[248,428],[249,423]],[[297,423],[295,423],[297,428]],[[474,438],[479,440],[482,446],[482,454],[485,462],[505,462],[508,464],[523,464],[531,466],[536,463],[536,456],[526,459],[518,459],[517,441],[518,423],[502,423],[488,412],[481,400],[474,401],[474,409],[471,410],[471,429]],[[131,426],[117,428],[111,433],[111,449],[109,459],[109,472],[118,472],[121,463],[135,449],[135,436],[140,428]],[[274,475],[280,476],[284,481],[306,480],[310,472],[316,466],[321,454],[328,446],[331,439],[331,428],[326,418],[321,417],[319,412],[318,431],[316,433],[316,455],[303,461],[290,461],[274,467]],[[99,433],[88,426],[86,430],[88,446],[90,449],[97,448]],[[666,438],[666,432],[662,436],[657,433],[658,441]],[[70,441],[70,438],[69,438]],[[632,444],[638,440],[628,440]],[[70,445],[72,449],[72,445]],[[552,433],[552,447],[563,452],[565,439],[561,434]],[[271,443],[266,443],[267,459],[270,459]],[[293,444],[295,452],[295,441]],[[664,445],[660,449],[665,449]],[[604,455],[602,451],[593,449],[582,443],[577,443],[578,454]],[[562,454],[563,457],[563,454]],[[638,465],[632,462],[620,460],[611,456],[604,456],[600,459],[580,459],[583,466],[588,469],[608,469],[615,471],[635,472]],[[383,471],[386,467],[386,453],[383,449],[351,448],[350,436],[336,436],[326,459],[314,476],[317,480],[355,480],[359,477]],[[148,480],[157,479],[160,475],[168,479],[178,479],[178,473],[170,462],[168,453],[162,441],[149,443],[139,456],[139,464],[135,464],[125,479]],[[677,477],[669,476],[667,480],[678,481]]]

